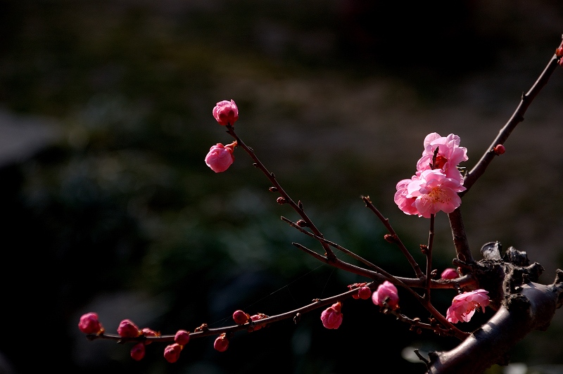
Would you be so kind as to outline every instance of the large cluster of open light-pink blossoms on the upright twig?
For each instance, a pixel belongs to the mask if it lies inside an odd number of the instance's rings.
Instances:
[[[457,165],[467,160],[467,148],[460,147],[459,136],[428,134],[417,172],[397,183],[395,203],[405,214],[424,218],[439,211],[453,212],[462,202],[457,193],[465,191]]]

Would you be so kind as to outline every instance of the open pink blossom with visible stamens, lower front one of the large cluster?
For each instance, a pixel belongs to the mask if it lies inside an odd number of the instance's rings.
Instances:
[[[430,218],[440,211],[453,212],[462,203],[457,193],[465,189],[459,180],[448,178],[438,169],[428,169],[408,184],[405,198],[415,197],[419,217]]]

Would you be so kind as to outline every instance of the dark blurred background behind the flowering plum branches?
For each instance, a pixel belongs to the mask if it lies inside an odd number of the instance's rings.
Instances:
[[[298,217],[243,150],[227,172],[205,165],[210,146],[232,141],[211,115],[221,100],[236,101],[237,133],[325,237],[413,276],[360,195],[424,264],[428,220],[394,205],[397,181],[434,131],[460,135],[471,168],[563,32],[557,1],[451,3],[0,1],[0,372],[424,372],[403,349],[457,342],[366,300],[344,302],[338,330],[314,311],[239,333],[224,353],[192,340],[174,364],[165,344],[136,362],[77,323],[96,311],[108,333],[124,318],[163,334],[215,328],[235,309],[278,314],[363,281],[291,245],[319,247],[279,220]],[[543,283],[563,263],[562,98],[558,70],[462,205],[476,258],[488,241],[514,245],[545,267]],[[442,271],[455,255],[445,214],[435,241]],[[426,318],[399,292],[405,314]],[[436,307],[453,295],[434,292]],[[512,361],[548,373],[563,363],[562,330],[556,316]]]

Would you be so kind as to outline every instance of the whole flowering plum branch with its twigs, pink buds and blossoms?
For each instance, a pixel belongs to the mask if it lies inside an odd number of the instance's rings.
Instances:
[[[259,169],[272,183],[269,190],[272,193],[279,194],[277,203],[289,205],[301,217],[296,222],[286,217],[281,217],[281,220],[304,235],[317,240],[324,253],[320,254],[300,243],[292,244],[318,261],[334,266],[336,269],[365,277],[366,281],[348,285],[349,290],[339,295],[325,299],[314,299],[312,303],[301,308],[275,316],[265,314],[249,316],[242,311],[237,311],[240,312],[238,317],[235,318],[235,314],[233,316],[236,325],[209,328],[208,325],[203,323],[194,328],[189,333],[189,337],[218,335],[217,340],[220,340],[222,345],[216,346],[216,349],[222,351],[227,349],[228,340],[238,331],[255,331],[265,325],[289,318],[293,318],[293,321],[298,323],[302,314],[327,306],[330,307],[323,311],[322,322],[327,328],[338,328],[342,319],[340,308],[343,300],[350,297],[364,299],[372,297],[374,304],[378,304],[384,314],[393,315],[398,321],[410,324],[411,330],[429,329],[438,335],[454,336],[461,341],[455,349],[449,352],[431,352],[428,359],[416,352],[421,361],[426,364],[427,373],[479,373],[494,363],[504,362],[505,353],[531,330],[545,330],[555,314],[555,310],[563,304],[563,271],[557,270],[555,280],[550,285],[537,283],[538,277],[543,271],[542,266],[538,263],[529,264],[527,254],[512,247],[505,252],[504,256],[501,256],[502,246],[498,242],[483,245],[481,248],[483,259],[476,261],[472,256],[462,220],[461,198],[483,175],[495,155],[504,153],[505,141],[517,124],[524,120],[524,114],[531,102],[538,96],[543,86],[547,84],[555,69],[559,65],[563,65],[562,56],[563,42],[559,44],[555,54],[550,58],[548,65],[531,89],[522,94],[517,109],[505,126],[500,129],[491,146],[488,147],[479,162],[464,176],[457,169],[457,162],[467,160],[464,148],[459,146],[459,137],[450,134],[450,136],[444,138],[436,133],[429,134],[426,137],[423,157],[417,165],[417,174],[410,180],[400,181],[397,185],[398,192],[396,195],[396,203],[405,213],[418,214],[419,217],[429,218],[428,241],[426,244],[420,245],[420,250],[426,257],[424,271],[412,257],[410,250],[400,240],[389,220],[372,204],[369,196],[362,196],[366,207],[374,212],[386,227],[388,234],[384,236],[384,239],[398,246],[415,272],[415,278],[393,276],[388,271],[381,269],[381,267],[342,245],[324,238],[312,219],[305,213],[301,200],[295,202],[286,193],[274,173],[262,164],[254,150],[247,146],[234,131],[234,122],[238,120],[238,108],[236,108],[234,101],[217,103],[213,115],[217,122],[226,127],[227,133],[234,138],[234,143],[228,146],[217,144],[217,146],[212,147],[208,154],[209,159],[206,157],[205,160],[208,165],[215,172],[222,172],[234,160],[232,158],[234,148],[245,150],[253,160],[253,166]],[[423,160],[424,162],[422,162]],[[454,162],[454,160],[456,161]],[[455,165],[450,165],[450,163]],[[458,266],[458,274],[455,278],[435,279],[436,269],[432,268],[434,222],[435,214],[439,210],[446,212],[450,221],[456,254],[453,263]],[[339,259],[331,248],[343,252],[359,264],[351,264]],[[410,318],[403,314],[403,310],[398,307],[398,294],[395,286],[399,286],[400,289],[413,295],[429,312],[430,316],[427,321],[418,317]],[[454,298],[452,307],[448,309],[447,316],[441,314],[431,300],[432,289],[444,288],[455,289],[459,293]],[[422,295],[417,290],[422,290]],[[469,321],[475,309],[484,309],[486,306],[490,306],[496,312],[481,328],[466,332],[454,325],[457,321]],[[461,311],[460,308],[462,308]],[[175,350],[174,355],[170,356],[169,353],[167,356],[165,350],[165,358],[170,362],[177,360],[179,352],[184,346],[178,343],[176,335],[160,335],[148,333],[145,330],[141,331],[128,320],[125,320],[127,321],[125,327],[131,328],[133,325],[134,327],[130,330],[132,333],[124,333],[127,329],[121,331],[118,329],[118,335],[112,335],[103,330],[96,314],[87,314],[83,318],[84,321],[81,318],[79,327],[84,333],[87,333],[90,340],[108,339],[120,343],[135,342],[141,344],[142,349],[144,349],[143,344],[148,344],[148,342],[175,342],[179,349]],[[182,342],[185,343],[184,340]],[[139,345],[136,347],[139,347]],[[142,356],[143,354],[135,356],[132,351],[134,359],[140,359]],[[479,357],[479,359],[477,360],[475,357]]]

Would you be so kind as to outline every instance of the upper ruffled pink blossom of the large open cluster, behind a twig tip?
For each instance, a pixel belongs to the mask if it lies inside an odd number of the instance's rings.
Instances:
[[[434,158],[434,151],[438,148],[436,154],[436,165],[434,169],[440,169],[448,178],[457,179],[460,183],[463,181],[463,176],[457,165],[462,161],[467,161],[467,148],[460,147],[460,137],[455,134],[448,136],[440,136],[440,134],[433,132],[426,135],[424,138],[424,151],[422,157],[417,162],[417,170],[422,172],[432,168],[432,159]]]

